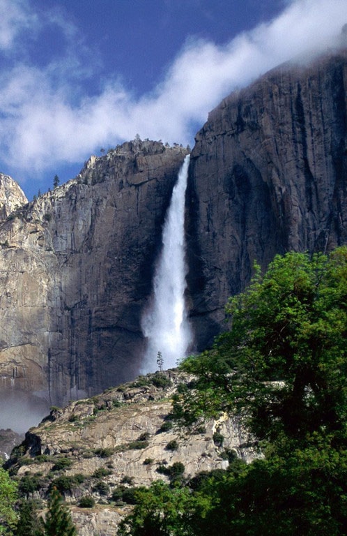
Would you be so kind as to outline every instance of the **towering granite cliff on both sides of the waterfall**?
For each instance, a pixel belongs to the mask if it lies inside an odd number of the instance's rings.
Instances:
[[[265,268],[276,253],[346,244],[346,91],[346,50],[285,64],[225,98],[196,135],[186,228],[198,350],[223,329],[224,304],[254,260]],[[185,154],[134,140],[31,203],[1,175],[2,408],[29,394],[43,416],[42,400],[60,405],[137,375]]]

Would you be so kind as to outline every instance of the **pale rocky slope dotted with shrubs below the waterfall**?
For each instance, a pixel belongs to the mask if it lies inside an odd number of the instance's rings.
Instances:
[[[190,478],[226,469],[235,454],[253,459],[254,448],[237,420],[221,417],[184,431],[170,419],[171,396],[189,380],[177,371],[156,373],[52,409],[8,462],[22,496],[44,506],[54,485],[68,502],[79,536],[114,536],[129,512],[132,489],[155,479],[169,482],[173,464],[183,464],[183,477]],[[95,500],[94,507],[79,506],[85,496]]]

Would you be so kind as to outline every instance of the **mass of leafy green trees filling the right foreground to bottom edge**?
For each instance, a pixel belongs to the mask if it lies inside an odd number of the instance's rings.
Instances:
[[[190,357],[183,424],[241,415],[263,458],[139,490],[119,535],[343,535],[347,526],[347,248],[276,257],[229,300],[231,329]]]

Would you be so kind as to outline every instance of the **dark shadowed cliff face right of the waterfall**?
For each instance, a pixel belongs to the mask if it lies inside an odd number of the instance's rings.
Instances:
[[[256,260],[347,242],[347,51],[285,64],[231,94],[196,135],[187,191],[199,349]]]

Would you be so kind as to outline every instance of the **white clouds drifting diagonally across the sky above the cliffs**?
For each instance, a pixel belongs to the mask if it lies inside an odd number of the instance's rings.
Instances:
[[[0,6],[0,47],[9,49],[18,31],[38,19],[24,0],[1,0]],[[7,15],[6,6],[12,6]],[[292,1],[274,20],[224,46],[188,40],[164,80],[137,98],[115,80],[96,96],[84,95],[83,77],[91,73],[83,71],[72,48],[44,68],[17,64],[2,72],[0,158],[13,169],[40,172],[82,161],[95,147],[114,146],[136,133],[186,143],[233,89],[298,54],[336,46],[345,22],[346,0]],[[65,38],[76,34],[72,24],[59,24]]]

